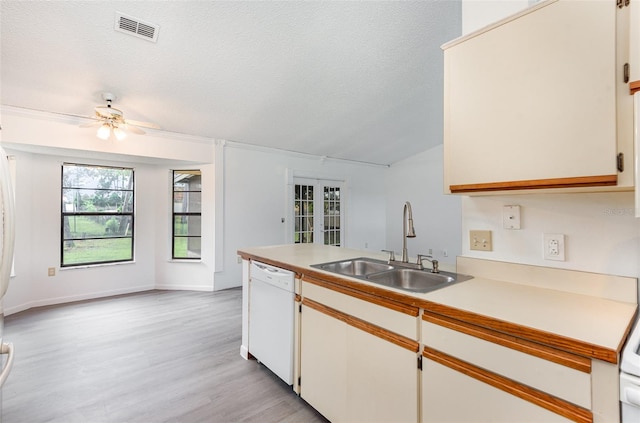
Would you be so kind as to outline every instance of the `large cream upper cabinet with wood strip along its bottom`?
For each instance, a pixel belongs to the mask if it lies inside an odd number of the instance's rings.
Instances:
[[[546,1],[443,46],[445,192],[633,189],[622,3]]]

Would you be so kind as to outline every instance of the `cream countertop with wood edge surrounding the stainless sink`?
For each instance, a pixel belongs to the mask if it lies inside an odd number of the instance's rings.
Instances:
[[[385,253],[313,244],[243,248],[239,253],[243,256],[262,258],[274,265],[293,267],[293,270],[302,273],[308,269],[334,276],[335,274],[330,272],[311,268],[310,265],[356,257],[382,260],[388,257]],[[455,266],[446,263],[443,263],[441,268],[455,271]],[[572,273],[572,279],[579,277],[581,272],[576,273],[577,276]],[[360,279],[346,279],[381,288],[380,285]],[[474,279],[424,294],[392,288],[388,290],[401,293],[406,297],[556,334],[615,352],[621,350],[637,309],[637,304],[632,302],[486,277],[474,277]]]

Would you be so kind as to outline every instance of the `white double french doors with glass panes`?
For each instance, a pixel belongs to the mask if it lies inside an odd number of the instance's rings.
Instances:
[[[293,187],[293,242],[341,246],[344,242],[342,184],[295,178]]]

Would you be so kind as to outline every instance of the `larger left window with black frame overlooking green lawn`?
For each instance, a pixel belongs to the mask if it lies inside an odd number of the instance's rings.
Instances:
[[[133,261],[134,172],[62,165],[60,266]]]

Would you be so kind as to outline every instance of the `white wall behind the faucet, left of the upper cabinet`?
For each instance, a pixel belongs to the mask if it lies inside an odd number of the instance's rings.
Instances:
[[[442,144],[394,163],[386,177],[387,249],[402,252],[404,203],[413,209],[416,237],[407,239],[409,256],[428,254],[441,262],[455,263],[461,254],[461,198],[444,195]],[[446,254],[446,256],[445,256]],[[399,259],[399,257],[398,257]]]

